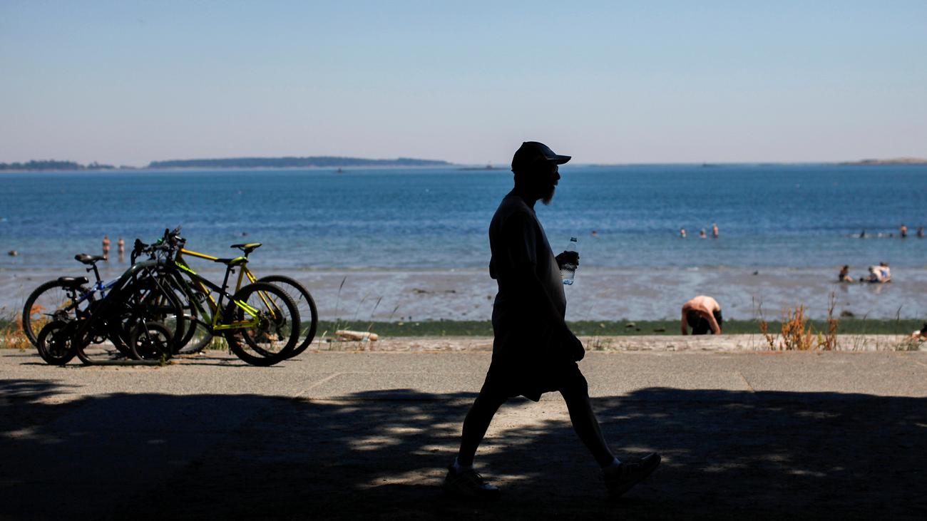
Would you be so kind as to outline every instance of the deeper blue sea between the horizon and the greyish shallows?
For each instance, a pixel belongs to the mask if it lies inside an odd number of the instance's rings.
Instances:
[[[561,172],[538,214],[554,249],[579,237],[584,266],[927,266],[927,239],[914,237],[927,225],[927,166]],[[177,224],[190,248],[213,254],[263,242],[252,258],[268,268],[483,268],[489,219],[511,183],[510,172],[452,168],[0,174],[0,249],[19,251],[0,269],[72,268],[73,254],[98,252],[103,235],[115,254],[120,236],[131,245]],[[699,239],[715,222],[720,237]]]

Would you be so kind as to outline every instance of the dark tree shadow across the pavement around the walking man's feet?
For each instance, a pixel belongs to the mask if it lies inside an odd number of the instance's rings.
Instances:
[[[664,464],[624,501],[552,404],[488,438],[501,502],[444,498],[472,393],[339,400],[109,394],[0,382],[0,518],[922,518],[927,399],[645,388],[593,400],[619,457]],[[498,449],[490,451],[489,449]]]

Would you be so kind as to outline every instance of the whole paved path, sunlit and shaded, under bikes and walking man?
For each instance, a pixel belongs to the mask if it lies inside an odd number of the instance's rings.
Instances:
[[[617,504],[562,400],[512,400],[477,463],[489,505],[437,484],[486,352],[210,354],[162,368],[0,350],[0,518],[927,515],[927,352],[592,352],[619,457],[665,463]]]

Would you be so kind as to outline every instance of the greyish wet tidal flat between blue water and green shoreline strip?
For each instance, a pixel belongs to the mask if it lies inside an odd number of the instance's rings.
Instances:
[[[116,277],[125,264],[103,270]],[[252,266],[260,270],[260,264]],[[222,280],[222,272],[207,267],[201,273]],[[496,283],[485,270],[443,271],[311,271],[277,272],[307,286],[323,320],[489,320]],[[35,286],[60,275],[44,270],[0,271],[0,308],[17,310]],[[269,273],[260,273],[269,274]],[[886,285],[839,284],[836,269],[583,269],[574,286],[565,287],[567,320],[676,319],[682,302],[695,295],[714,296],[727,319],[756,318],[762,310],[777,319],[783,307],[804,304],[812,318],[827,314],[831,294],[835,313],[857,318],[922,318],[927,316],[927,269],[893,268],[895,282]],[[341,286],[342,281],[344,285]],[[340,291],[339,291],[340,286]],[[379,304],[377,304],[379,300]],[[6,311],[4,310],[4,311]]]

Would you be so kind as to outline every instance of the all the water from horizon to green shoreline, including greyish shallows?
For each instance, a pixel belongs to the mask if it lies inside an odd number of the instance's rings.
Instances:
[[[927,166],[567,164],[561,172],[552,205],[537,211],[554,249],[579,237],[568,298],[587,311],[575,319],[674,317],[695,292],[720,292],[748,316],[758,294],[770,307],[795,295],[823,301],[840,266],[858,277],[879,261],[891,263],[893,287],[842,287],[846,305],[870,316],[927,312],[927,239],[914,236],[927,225]],[[213,255],[262,242],[251,255],[262,273],[311,281],[323,311],[335,306],[344,276],[350,286],[360,280],[350,273],[364,273],[378,282],[355,288],[357,299],[384,297],[387,311],[394,299],[414,310],[408,315],[459,318],[465,308],[466,318],[488,318],[487,228],[511,184],[511,172],[454,168],[4,173],[0,283],[19,286],[0,300],[24,298],[46,275],[79,274],[73,255],[99,252],[103,235],[113,257],[105,272],[119,273],[118,237],[131,248],[135,237],[151,241],[182,224],[188,247]],[[719,238],[698,238],[715,222]],[[590,284],[592,273],[612,286]]]

